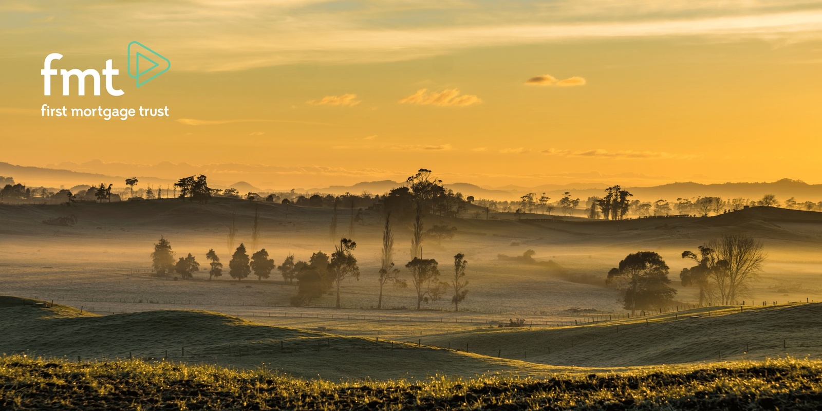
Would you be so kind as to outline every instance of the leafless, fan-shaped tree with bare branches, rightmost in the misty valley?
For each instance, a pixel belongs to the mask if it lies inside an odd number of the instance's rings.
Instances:
[[[717,286],[723,304],[732,304],[746,293],[748,285],[757,279],[767,255],[762,242],[744,234],[726,234],[708,242],[716,259],[724,261],[720,270],[710,277]]]

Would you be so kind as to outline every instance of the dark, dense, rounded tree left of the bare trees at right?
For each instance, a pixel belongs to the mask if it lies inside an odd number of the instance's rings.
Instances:
[[[676,289],[668,287],[668,266],[656,252],[629,254],[618,268],[608,271],[605,284],[617,284],[623,293],[623,307],[633,315],[636,310],[663,307],[673,299]]]

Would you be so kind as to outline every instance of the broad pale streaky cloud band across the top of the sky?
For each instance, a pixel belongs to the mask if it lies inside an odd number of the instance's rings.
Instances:
[[[413,5],[358,2],[346,12],[325,3],[191,0],[158,3],[146,12],[143,2],[100,7],[98,2],[68,6],[59,0],[7,0],[0,4],[0,12],[14,11],[15,21],[28,23],[4,25],[0,35],[27,39],[8,42],[4,54],[60,49],[106,56],[114,44],[145,35],[159,51],[175,57],[175,70],[198,72],[298,62],[402,61],[463,48],[575,39],[718,36],[818,41],[822,35],[822,10],[810,0],[423,0]],[[419,14],[436,18],[397,25],[411,8],[436,10]],[[376,13],[380,19],[374,18]],[[48,31],[43,24],[31,22],[50,20],[48,16],[57,16],[45,25]],[[83,27],[81,32],[78,26]]]

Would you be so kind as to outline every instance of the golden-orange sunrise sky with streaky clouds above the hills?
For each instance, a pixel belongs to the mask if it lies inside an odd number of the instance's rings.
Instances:
[[[420,168],[484,187],[822,182],[820,2],[7,0],[0,40],[12,164],[194,165],[274,189]],[[169,71],[136,87],[132,41]],[[48,53],[58,70],[112,59],[124,94],[63,96],[53,76],[45,96]],[[46,118],[43,104],[169,118]]]

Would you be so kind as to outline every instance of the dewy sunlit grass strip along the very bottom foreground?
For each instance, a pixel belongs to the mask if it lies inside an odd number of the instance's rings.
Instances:
[[[265,368],[0,358],[2,409],[818,409],[822,362],[797,358],[549,378],[330,382]]]

